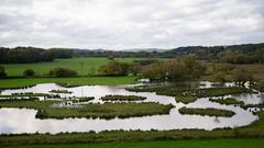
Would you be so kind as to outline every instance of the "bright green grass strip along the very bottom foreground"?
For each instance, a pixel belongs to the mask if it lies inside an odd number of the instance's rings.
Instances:
[[[165,141],[122,141],[103,144],[38,145],[9,148],[261,148],[264,138],[256,139],[213,139],[213,140],[165,140]]]

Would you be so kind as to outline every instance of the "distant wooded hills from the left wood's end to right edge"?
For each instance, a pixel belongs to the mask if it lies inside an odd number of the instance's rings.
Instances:
[[[76,57],[163,57],[175,58],[178,56],[195,55],[200,60],[213,60],[229,64],[264,64],[264,43],[242,44],[230,46],[186,46],[164,52],[114,52],[114,50],[84,50],[75,49]]]

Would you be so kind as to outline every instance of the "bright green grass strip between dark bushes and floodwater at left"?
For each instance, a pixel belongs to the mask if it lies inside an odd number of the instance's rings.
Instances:
[[[138,77],[76,77],[76,78],[21,78],[0,80],[0,89],[22,88],[37,83],[64,83],[68,86],[114,86],[135,83]]]

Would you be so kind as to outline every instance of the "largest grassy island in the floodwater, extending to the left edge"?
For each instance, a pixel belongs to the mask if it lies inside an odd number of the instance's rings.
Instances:
[[[144,103],[103,103],[85,104],[81,107],[54,107],[59,101],[2,101],[0,107],[26,107],[37,110],[37,118],[125,118],[132,116],[168,114],[173,105],[162,105],[154,102]]]

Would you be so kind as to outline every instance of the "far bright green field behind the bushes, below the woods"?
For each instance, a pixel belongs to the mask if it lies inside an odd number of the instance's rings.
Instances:
[[[118,61],[132,62],[133,60],[141,60],[147,58],[116,58]],[[8,64],[2,65],[6,68],[8,76],[22,76],[25,69],[33,69],[37,76],[48,73],[50,70],[64,67],[76,70],[80,76],[87,76],[88,73],[96,73],[97,68],[107,64],[108,58],[89,57],[89,58],[70,58],[70,59],[56,59],[52,62],[35,62],[35,64]],[[82,70],[81,70],[81,62]]]

